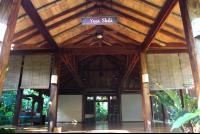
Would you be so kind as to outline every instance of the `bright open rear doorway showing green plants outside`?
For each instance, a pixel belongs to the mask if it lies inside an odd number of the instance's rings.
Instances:
[[[108,102],[96,102],[96,122],[108,122]]]

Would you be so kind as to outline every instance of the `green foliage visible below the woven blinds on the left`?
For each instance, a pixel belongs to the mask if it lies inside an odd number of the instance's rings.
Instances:
[[[16,91],[3,91],[1,96],[0,102],[0,126],[1,125],[12,125],[13,124],[13,112],[15,108],[15,101],[16,101]],[[38,92],[30,89],[24,89],[24,95],[39,95]],[[43,95],[44,102],[43,102],[43,115],[46,115],[46,121],[48,120],[47,114],[49,109],[49,100],[50,97]],[[37,103],[35,103],[34,111],[36,112]],[[32,107],[32,101],[28,101],[22,99],[22,111],[29,111]],[[20,120],[20,124],[24,121]],[[27,121],[28,123],[29,121]]]

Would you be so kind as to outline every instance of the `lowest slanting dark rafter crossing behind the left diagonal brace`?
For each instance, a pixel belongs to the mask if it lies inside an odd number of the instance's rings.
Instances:
[[[96,5],[88,8],[88,13],[92,12],[94,9],[96,9]],[[81,12],[75,14],[75,15],[72,15],[72,16],[70,16],[68,18],[65,18],[65,19],[60,20],[60,21],[58,21],[56,23],[53,23],[52,25],[47,26],[47,29],[48,30],[52,30],[54,28],[57,28],[57,27],[59,27],[62,24],[65,24],[65,23],[70,22],[70,21],[72,21],[74,19],[77,19],[78,17],[81,17],[82,15],[85,14],[85,12],[86,12],[85,10],[81,11]],[[32,34],[29,34],[28,36],[25,36],[25,37],[23,37],[23,38],[21,38],[19,40],[14,41],[13,44],[15,44],[16,46],[20,45],[20,44],[24,43],[25,41],[30,40],[31,38],[36,37],[37,35],[40,35],[40,32],[38,32],[38,31],[33,32]]]

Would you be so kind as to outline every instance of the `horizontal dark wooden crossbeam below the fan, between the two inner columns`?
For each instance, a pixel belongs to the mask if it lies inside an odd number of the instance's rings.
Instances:
[[[105,55],[105,54],[134,54],[139,53],[137,46],[133,47],[87,47],[74,49],[61,49],[61,53],[76,54],[76,55]]]

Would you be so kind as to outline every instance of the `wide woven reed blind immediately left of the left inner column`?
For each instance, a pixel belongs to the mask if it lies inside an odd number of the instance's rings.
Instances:
[[[51,59],[51,55],[27,55],[20,88],[49,89]]]

